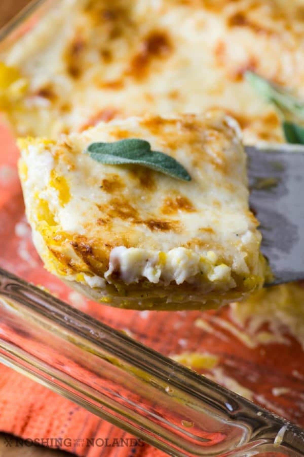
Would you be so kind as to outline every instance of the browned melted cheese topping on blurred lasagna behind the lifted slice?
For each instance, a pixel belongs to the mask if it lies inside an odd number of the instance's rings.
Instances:
[[[0,104],[21,135],[221,107],[246,142],[281,141],[243,74],[304,96],[303,18],[300,0],[63,0],[0,56]]]

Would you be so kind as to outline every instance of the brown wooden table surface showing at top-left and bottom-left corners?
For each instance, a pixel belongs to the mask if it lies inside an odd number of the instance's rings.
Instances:
[[[15,16],[29,0],[0,0],[0,27]],[[47,449],[42,446],[21,446],[19,440],[0,433],[0,457],[67,457],[67,452]]]

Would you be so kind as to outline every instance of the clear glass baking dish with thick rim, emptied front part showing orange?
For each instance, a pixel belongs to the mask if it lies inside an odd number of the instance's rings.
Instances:
[[[0,52],[58,3],[31,2],[0,32]],[[292,424],[304,425],[297,341],[286,335],[288,346],[252,345],[250,323],[232,322],[228,306],[131,311],[72,292],[43,269],[33,248],[18,151],[4,125],[0,135],[0,360],[171,455],[304,455],[304,431]],[[206,376],[168,357],[183,361],[180,354]],[[282,386],[285,393],[276,395]]]

